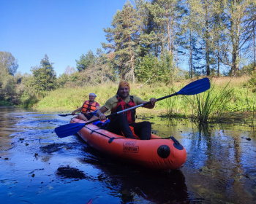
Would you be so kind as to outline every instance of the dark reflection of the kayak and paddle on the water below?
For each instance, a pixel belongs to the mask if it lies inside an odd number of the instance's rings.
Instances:
[[[110,195],[120,197],[121,203],[136,203],[138,199],[152,203],[189,202],[186,181],[181,170],[148,170],[115,162],[93,149],[86,149],[86,154],[89,153],[90,155],[80,158],[79,161],[85,165],[94,165],[94,168],[97,168],[97,175],[90,175],[78,168],[61,166],[56,170],[56,176],[98,181],[109,189]],[[75,181],[74,179],[70,181]],[[64,182],[69,182],[69,179]]]

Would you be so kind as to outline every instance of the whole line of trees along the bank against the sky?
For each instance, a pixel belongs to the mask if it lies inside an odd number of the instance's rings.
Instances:
[[[256,66],[255,0],[127,1],[103,28],[106,42],[56,76],[45,55],[31,74],[0,52],[0,101],[30,106],[60,87],[173,82],[195,76],[240,76]],[[188,67],[184,69],[182,67]]]

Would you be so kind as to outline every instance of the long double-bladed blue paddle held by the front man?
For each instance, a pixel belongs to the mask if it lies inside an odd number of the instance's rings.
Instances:
[[[185,87],[183,87],[181,90],[179,90],[176,93],[166,95],[162,98],[158,98],[157,101],[161,101],[165,98],[170,98],[173,95],[195,95],[195,94],[202,93],[202,92],[208,90],[210,88],[210,86],[211,85],[210,85],[210,81],[209,81],[208,78],[198,79],[195,82],[189,83],[189,85],[186,85]],[[125,109],[125,110],[122,110],[122,111],[118,111],[118,112],[110,114],[106,117],[107,118],[112,117],[112,116],[115,116],[117,114],[121,114],[125,111],[129,111],[129,110],[132,110],[132,109],[137,109],[138,107],[146,106],[149,103],[151,103],[151,102],[148,101],[146,103],[141,103],[138,106],[133,106],[132,108]],[[57,134],[57,136],[59,136],[59,138],[72,136],[75,133],[77,133],[79,130],[81,130],[85,125],[88,125],[90,123],[97,122],[97,121],[99,121],[99,119],[94,119],[94,120],[92,120],[90,122],[86,122],[86,123],[69,123],[67,125],[61,125],[61,126],[55,128],[55,133]]]

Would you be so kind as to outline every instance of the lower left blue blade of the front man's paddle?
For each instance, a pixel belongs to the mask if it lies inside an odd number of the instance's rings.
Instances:
[[[72,136],[78,133],[84,127],[84,123],[70,123],[67,125],[61,125],[55,128],[55,133],[59,138],[64,138],[67,136]]]

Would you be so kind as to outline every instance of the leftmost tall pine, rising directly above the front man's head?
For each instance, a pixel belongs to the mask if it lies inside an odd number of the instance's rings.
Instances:
[[[127,1],[121,11],[117,11],[112,21],[113,28],[105,28],[108,44],[102,47],[113,52],[120,78],[132,79],[135,83],[135,57],[138,56],[138,34],[140,21],[138,13]]]

